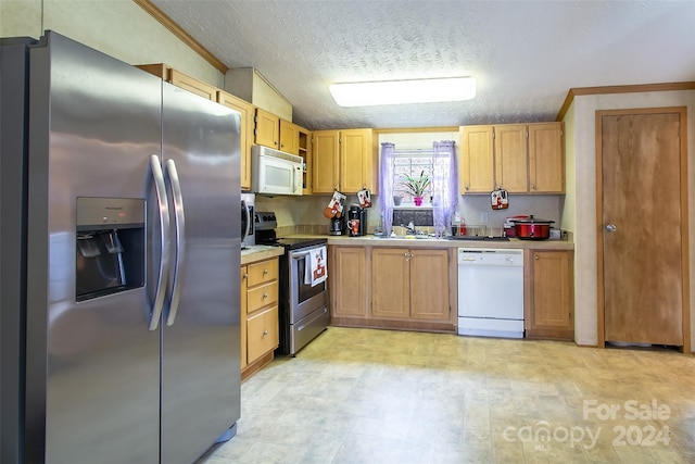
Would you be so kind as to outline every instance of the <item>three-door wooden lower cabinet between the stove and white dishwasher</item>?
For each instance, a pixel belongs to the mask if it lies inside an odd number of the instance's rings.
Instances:
[[[333,325],[456,329],[450,249],[331,247]]]

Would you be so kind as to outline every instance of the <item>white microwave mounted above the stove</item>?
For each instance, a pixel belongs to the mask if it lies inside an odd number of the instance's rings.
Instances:
[[[251,159],[254,192],[302,195],[301,156],[255,145],[251,148]]]

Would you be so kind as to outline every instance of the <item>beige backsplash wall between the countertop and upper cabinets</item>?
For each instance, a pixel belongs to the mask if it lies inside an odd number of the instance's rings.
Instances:
[[[330,220],[324,216],[324,209],[330,201],[330,196],[304,197],[265,197],[256,195],[256,211],[274,211],[278,221],[278,234],[327,234]],[[372,196],[372,208],[367,211],[367,231],[371,234],[381,224],[379,197]],[[458,211],[467,225],[485,226],[488,230],[502,230],[506,217],[520,214],[533,214],[538,218],[555,221],[554,228],[560,228],[561,211],[565,197],[555,195],[509,195],[507,210],[492,210],[490,196],[460,196]],[[345,200],[345,211],[351,204],[358,204],[357,196],[349,195]],[[416,226],[431,225],[431,210],[413,208],[418,213],[414,217]],[[399,210],[397,214],[407,215],[408,210]],[[426,213],[427,211],[427,213]],[[403,216],[405,217],[405,216]],[[401,217],[401,218],[403,218]],[[409,217],[409,216],[408,216]],[[427,222],[430,222],[429,224]],[[393,222],[400,225],[400,222]],[[407,224],[404,222],[403,224]]]

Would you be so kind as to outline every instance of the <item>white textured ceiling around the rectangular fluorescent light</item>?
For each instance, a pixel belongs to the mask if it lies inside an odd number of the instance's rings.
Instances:
[[[153,0],[308,129],[554,121],[572,87],[695,81],[695,1]],[[328,85],[473,76],[476,99],[340,108]]]

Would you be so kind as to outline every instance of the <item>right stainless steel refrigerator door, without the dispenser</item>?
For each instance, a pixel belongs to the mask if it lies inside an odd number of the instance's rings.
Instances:
[[[240,415],[240,116],[165,83],[162,117],[167,180],[176,190],[173,160],[186,222],[178,231],[172,222],[185,260],[176,315],[165,310],[172,325],[162,324],[161,462],[190,464]]]

